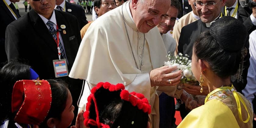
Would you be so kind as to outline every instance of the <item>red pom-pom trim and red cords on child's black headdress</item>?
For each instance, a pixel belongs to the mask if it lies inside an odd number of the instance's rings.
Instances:
[[[84,124],[86,127],[89,127],[89,125],[97,126],[98,128],[110,128],[109,125],[105,125],[103,123],[100,123],[99,121],[99,111],[95,98],[95,93],[100,88],[104,88],[110,92],[113,91],[120,91],[120,98],[122,100],[130,102],[133,106],[137,106],[139,110],[142,110],[144,113],[150,114],[151,113],[151,105],[148,103],[148,100],[144,97],[143,94],[132,92],[129,93],[128,90],[125,90],[125,86],[123,84],[110,84],[108,82],[100,82],[98,83],[94,88],[91,89],[91,94],[89,95],[86,103],[86,111],[84,112]],[[104,97],[104,96],[103,96]],[[95,104],[95,111],[96,111],[96,121],[94,119],[89,118],[89,110],[91,103]]]

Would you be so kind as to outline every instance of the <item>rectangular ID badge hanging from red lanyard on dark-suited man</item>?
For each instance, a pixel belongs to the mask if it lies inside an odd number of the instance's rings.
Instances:
[[[66,59],[53,60],[53,67],[56,78],[69,75]]]

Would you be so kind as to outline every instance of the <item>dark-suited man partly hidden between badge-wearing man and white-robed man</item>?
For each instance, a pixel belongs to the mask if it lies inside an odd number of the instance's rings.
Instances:
[[[72,4],[66,0],[56,0],[55,9],[74,15],[79,23],[80,30],[88,23],[82,6]]]

